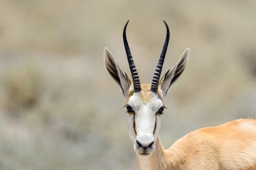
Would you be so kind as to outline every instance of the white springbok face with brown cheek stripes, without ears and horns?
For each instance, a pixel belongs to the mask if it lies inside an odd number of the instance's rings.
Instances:
[[[132,90],[130,90],[132,91]],[[164,104],[159,94],[150,91],[150,84],[141,85],[141,92],[128,98],[128,131],[134,150],[140,155],[150,155],[155,150],[155,140],[161,123]]]

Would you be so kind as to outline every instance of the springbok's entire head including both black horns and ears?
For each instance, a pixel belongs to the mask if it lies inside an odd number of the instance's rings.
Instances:
[[[132,74],[132,81],[118,66],[108,48],[104,50],[104,63],[112,78],[119,87],[121,87],[122,94],[127,101],[128,131],[130,138],[134,142],[135,152],[139,155],[150,155],[155,150],[155,140],[158,137],[161,115],[165,108],[163,101],[170,87],[177,81],[186,68],[189,60],[189,48],[185,50],[175,66],[160,78],[170,37],[169,28],[166,22],[164,22],[167,34],[152,83],[141,84],[126,39],[126,27],[128,22],[124,27],[123,39]]]

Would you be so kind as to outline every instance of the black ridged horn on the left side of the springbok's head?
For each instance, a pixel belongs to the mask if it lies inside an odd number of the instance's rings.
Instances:
[[[129,20],[128,20],[128,22],[129,22]],[[132,74],[134,93],[137,93],[137,92],[141,91],[141,86],[140,86],[140,82],[139,82],[139,75],[136,70],[134,61],[132,59],[132,54],[130,52],[130,48],[129,48],[129,45],[128,45],[128,42],[126,39],[126,26],[127,26],[128,22],[124,26],[124,32],[123,32],[124,48],[126,50],[127,59],[128,59],[128,63],[129,63],[131,74]]]

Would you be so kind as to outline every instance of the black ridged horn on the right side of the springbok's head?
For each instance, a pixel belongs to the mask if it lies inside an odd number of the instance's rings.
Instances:
[[[154,73],[151,88],[150,88],[150,91],[152,91],[154,93],[157,93],[157,90],[158,90],[159,79],[160,79],[162,67],[164,64],[164,58],[165,58],[165,54],[166,54],[166,50],[167,50],[168,42],[169,42],[169,38],[170,38],[170,31],[169,31],[168,25],[166,24],[165,21],[164,21],[164,24],[165,24],[166,30],[167,30],[166,39],[164,41],[163,50],[162,50],[160,58],[158,60],[157,68],[155,69],[155,73]]]

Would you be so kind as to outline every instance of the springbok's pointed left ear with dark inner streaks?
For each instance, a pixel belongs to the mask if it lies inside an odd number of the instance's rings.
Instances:
[[[104,63],[110,76],[121,88],[124,98],[127,99],[128,91],[131,85],[130,78],[121,68],[119,68],[117,61],[106,47],[104,49]]]

